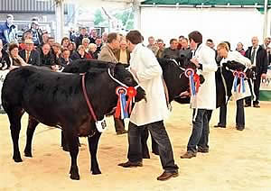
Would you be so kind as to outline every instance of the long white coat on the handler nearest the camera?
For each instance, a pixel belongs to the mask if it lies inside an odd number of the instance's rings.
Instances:
[[[131,52],[130,66],[135,70],[139,85],[145,89],[146,99],[136,102],[130,121],[135,125],[145,125],[164,120],[168,115],[162,68],[152,50],[141,43]]]

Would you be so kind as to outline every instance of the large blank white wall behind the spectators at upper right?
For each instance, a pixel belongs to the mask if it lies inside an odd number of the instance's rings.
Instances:
[[[145,39],[154,36],[164,39],[167,45],[170,39],[197,30],[202,33],[203,41],[212,39],[216,44],[230,41],[232,49],[241,41],[248,47],[253,36],[262,43],[263,24],[264,14],[255,8],[141,8],[141,31]]]

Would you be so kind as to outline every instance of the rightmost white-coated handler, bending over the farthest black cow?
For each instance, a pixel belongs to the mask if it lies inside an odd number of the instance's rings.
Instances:
[[[225,42],[221,42],[218,47],[218,55],[220,56],[220,66],[222,66],[224,63],[227,63],[228,61],[237,61],[238,63],[243,64],[246,67],[251,66],[251,61],[242,56],[238,51],[230,51],[229,44]],[[238,85],[240,86],[240,85]],[[245,129],[245,111],[244,111],[244,98],[251,96],[250,89],[248,86],[248,81],[245,80],[245,92],[234,92],[232,91],[232,98],[234,101],[236,101],[237,105],[237,111],[236,111],[236,129],[239,131],[242,131]],[[238,89],[238,87],[237,87]],[[229,90],[230,91],[230,90]],[[227,102],[227,100],[226,100]],[[215,125],[214,127],[226,127],[226,120],[227,119],[227,103],[225,105],[221,105],[220,107],[220,122]]]

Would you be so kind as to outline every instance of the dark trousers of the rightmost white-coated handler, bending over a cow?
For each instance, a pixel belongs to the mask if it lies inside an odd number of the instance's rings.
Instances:
[[[245,111],[244,111],[244,99],[236,101],[236,124],[238,126],[245,126]],[[225,125],[227,123],[227,105],[220,106],[220,122],[219,124]]]

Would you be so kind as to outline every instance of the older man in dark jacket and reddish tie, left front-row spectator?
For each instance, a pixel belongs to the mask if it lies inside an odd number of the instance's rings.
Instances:
[[[40,52],[33,49],[34,43],[32,39],[24,40],[24,46],[25,46],[25,49],[19,52],[19,55],[22,57],[22,59],[27,64],[40,66],[41,65]]]

